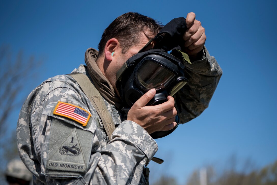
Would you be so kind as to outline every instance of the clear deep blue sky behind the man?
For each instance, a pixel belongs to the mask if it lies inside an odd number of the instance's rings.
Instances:
[[[86,49],[97,48],[103,30],[117,16],[139,12],[166,24],[195,12],[205,28],[205,45],[223,76],[207,110],[157,140],[156,156],[165,162],[149,165],[150,174],[167,173],[184,183],[193,169],[224,164],[232,154],[252,159],[257,167],[277,159],[276,5],[276,1],[2,1],[0,45],[43,59],[39,75],[22,92],[27,96],[48,77],[84,64]],[[11,120],[15,128],[17,120]]]

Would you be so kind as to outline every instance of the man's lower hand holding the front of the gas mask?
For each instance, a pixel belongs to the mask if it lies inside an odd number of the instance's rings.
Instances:
[[[127,115],[127,120],[139,124],[149,134],[155,131],[171,130],[177,124],[174,122],[177,111],[173,97],[168,96],[168,101],[160,105],[146,106],[155,94],[155,89],[149,90],[134,103]]]

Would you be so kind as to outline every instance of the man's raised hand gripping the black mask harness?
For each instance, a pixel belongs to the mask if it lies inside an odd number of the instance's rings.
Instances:
[[[197,55],[206,42],[205,29],[202,27],[201,22],[195,19],[193,12],[188,13],[186,24],[187,30],[183,36],[185,40],[185,52],[188,55]]]

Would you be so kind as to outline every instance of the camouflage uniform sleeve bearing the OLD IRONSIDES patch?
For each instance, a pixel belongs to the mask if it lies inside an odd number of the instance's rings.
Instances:
[[[28,150],[29,156],[33,156],[36,176],[40,179],[37,183],[138,184],[143,166],[158,149],[151,136],[136,123],[124,121],[113,132],[111,141],[102,147],[98,115],[89,110],[85,98],[74,88],[66,85],[55,88],[51,83],[45,84],[32,101],[30,145],[33,147],[19,146],[20,153]],[[45,97],[43,91],[47,91]],[[87,125],[54,114],[57,102],[90,112]]]

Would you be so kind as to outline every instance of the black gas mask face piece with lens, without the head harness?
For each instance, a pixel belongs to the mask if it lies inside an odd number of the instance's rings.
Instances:
[[[164,51],[143,53],[131,57],[128,60],[130,62],[127,61],[121,68],[121,75],[117,78],[116,87],[127,110],[152,88],[155,88],[156,94],[147,105],[158,105],[166,102],[168,95],[173,96],[188,82],[184,77],[184,65],[178,58]],[[175,121],[175,128],[150,135],[155,139],[169,135],[179,124],[178,115]]]

